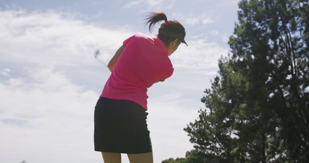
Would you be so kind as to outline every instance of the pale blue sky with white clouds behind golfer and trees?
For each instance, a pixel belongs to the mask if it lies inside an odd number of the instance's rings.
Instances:
[[[194,144],[184,128],[206,109],[203,91],[231,50],[238,2],[0,0],[0,162],[103,161],[93,116],[111,74],[104,64],[129,36],[155,37],[159,26],[150,33],[143,20],[150,11],[179,21],[188,44],[170,56],[173,75],[147,92],[154,162],[185,157]]]

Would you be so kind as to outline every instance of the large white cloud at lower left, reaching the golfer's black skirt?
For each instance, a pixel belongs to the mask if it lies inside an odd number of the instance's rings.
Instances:
[[[50,153],[63,157],[64,162],[76,155],[95,156],[92,119],[98,94],[74,85],[53,66],[23,73],[28,75],[0,81],[1,153],[23,159],[40,149],[33,162]],[[19,156],[10,153],[12,150]]]

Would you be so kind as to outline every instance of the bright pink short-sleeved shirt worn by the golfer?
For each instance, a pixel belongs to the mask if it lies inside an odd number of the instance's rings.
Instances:
[[[100,97],[131,100],[147,109],[147,88],[170,77],[174,68],[166,45],[143,33],[126,39]]]

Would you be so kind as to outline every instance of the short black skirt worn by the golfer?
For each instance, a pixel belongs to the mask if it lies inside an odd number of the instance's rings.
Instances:
[[[148,113],[136,102],[99,97],[94,111],[95,151],[152,152],[146,123]]]

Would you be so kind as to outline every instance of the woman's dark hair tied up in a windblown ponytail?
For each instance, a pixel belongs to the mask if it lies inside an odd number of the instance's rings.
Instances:
[[[167,17],[162,11],[155,11],[155,12],[149,12],[149,15],[146,16],[146,25],[149,23],[149,31],[152,33],[152,28],[156,23],[159,23],[160,21],[164,20],[167,21]],[[184,26],[182,26],[178,21],[176,20],[169,20],[169,24],[165,25],[163,22],[159,28],[159,30],[163,31],[169,31],[174,33],[181,33],[183,34],[183,38],[179,39],[179,41],[184,40],[184,36],[186,35],[186,31],[184,29]],[[161,39],[165,45],[168,45],[172,40],[175,38],[171,38],[168,36],[164,36],[162,34],[158,34],[157,37]]]

